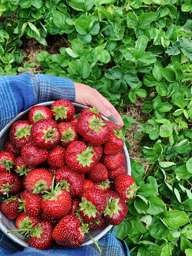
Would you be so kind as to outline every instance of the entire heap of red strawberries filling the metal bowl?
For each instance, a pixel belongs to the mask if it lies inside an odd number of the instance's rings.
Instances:
[[[103,121],[97,108],[75,115],[68,100],[51,110],[32,107],[28,120],[12,125],[0,152],[0,194],[9,196],[1,210],[17,227],[8,232],[19,231],[29,246],[44,250],[52,238],[80,246],[104,222],[119,225],[125,201],[138,189],[125,174],[124,140],[121,127]]]

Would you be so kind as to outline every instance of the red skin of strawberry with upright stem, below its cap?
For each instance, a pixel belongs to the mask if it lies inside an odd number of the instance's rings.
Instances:
[[[60,190],[56,200],[42,200],[41,208],[43,212],[51,217],[63,218],[71,208],[71,197],[66,190]]]

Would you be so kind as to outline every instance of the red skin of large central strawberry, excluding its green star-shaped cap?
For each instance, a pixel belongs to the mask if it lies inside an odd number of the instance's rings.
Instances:
[[[77,155],[82,154],[82,152],[85,151],[86,149],[87,149],[87,146],[81,141],[74,141],[71,144],[69,144],[65,152],[65,161],[66,161],[66,164],[72,170],[83,173],[83,172],[88,172],[93,168],[93,166],[96,163],[96,158],[93,154],[91,156],[92,162],[90,163],[90,166],[88,165],[83,166],[83,164],[79,163],[78,161]]]

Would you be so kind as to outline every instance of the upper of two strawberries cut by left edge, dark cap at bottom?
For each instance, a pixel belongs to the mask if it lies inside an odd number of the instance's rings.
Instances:
[[[11,172],[13,170],[15,156],[9,151],[0,152],[0,172]]]

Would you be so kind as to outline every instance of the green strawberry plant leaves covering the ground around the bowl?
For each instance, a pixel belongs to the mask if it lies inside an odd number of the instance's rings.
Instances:
[[[117,228],[131,256],[192,255],[191,2],[1,0],[0,75],[35,66],[21,67],[23,35],[46,45],[59,34],[70,47],[36,55],[45,74],[89,84],[118,110],[147,99],[136,136],[152,164],[132,161],[140,189]],[[125,133],[136,121],[123,119]]]

